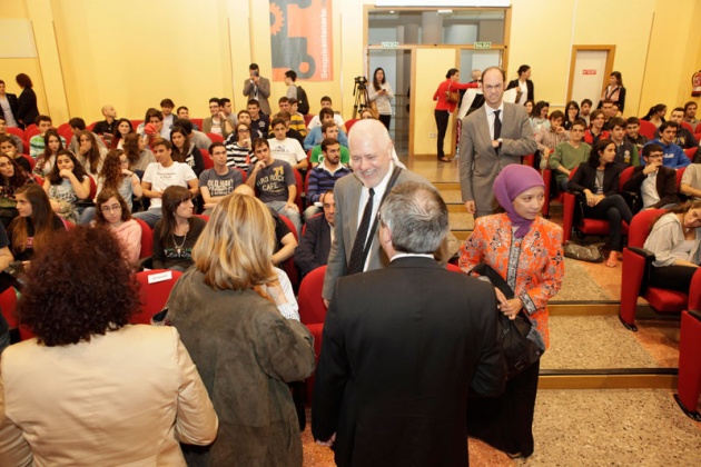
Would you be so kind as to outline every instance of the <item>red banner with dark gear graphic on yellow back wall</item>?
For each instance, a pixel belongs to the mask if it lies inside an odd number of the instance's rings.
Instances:
[[[273,80],[295,70],[305,81],[333,74],[332,0],[270,0]]]

